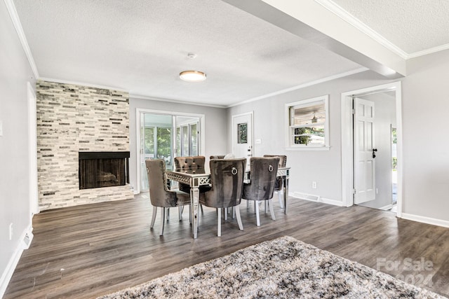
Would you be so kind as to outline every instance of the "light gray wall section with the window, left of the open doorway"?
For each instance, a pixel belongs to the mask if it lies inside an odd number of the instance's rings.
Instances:
[[[287,165],[292,167],[289,192],[319,195],[342,204],[341,93],[387,82],[380,75],[366,71],[234,106],[228,109],[228,122],[231,123],[232,115],[254,111],[254,139],[262,139],[262,144],[255,144],[254,155],[287,155]],[[286,151],[285,104],[321,95],[329,95],[330,150]],[[231,138],[228,136],[228,151],[232,151]],[[317,182],[316,189],[311,188],[312,181]]]

